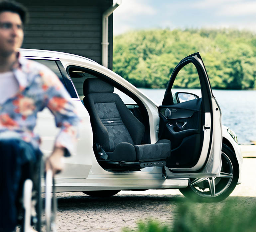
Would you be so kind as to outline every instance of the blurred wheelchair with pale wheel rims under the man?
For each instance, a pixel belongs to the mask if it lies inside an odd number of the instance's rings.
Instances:
[[[55,197],[55,186],[52,170],[48,170],[44,174],[44,161],[38,164],[38,173],[34,182],[32,179],[26,179],[23,184],[23,192],[20,204],[20,213],[18,216],[18,227],[21,232],[41,232],[45,226],[46,232],[56,232],[56,210],[57,200]],[[43,216],[43,199],[42,194],[42,177],[44,176],[45,188],[45,212]],[[34,184],[34,186],[33,186]],[[44,186],[43,186],[44,187]],[[17,231],[17,226],[16,226]]]

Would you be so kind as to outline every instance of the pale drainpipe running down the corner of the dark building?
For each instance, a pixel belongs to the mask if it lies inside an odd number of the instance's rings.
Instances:
[[[113,11],[121,5],[122,0],[117,0],[115,4],[109,7],[102,15],[102,55],[101,63],[106,68],[108,67],[108,17],[113,13]]]

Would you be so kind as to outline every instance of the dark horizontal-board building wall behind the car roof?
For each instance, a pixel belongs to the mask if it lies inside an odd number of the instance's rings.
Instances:
[[[72,53],[101,64],[102,13],[113,0],[18,0],[30,14],[22,48]],[[108,68],[112,69],[113,15]]]

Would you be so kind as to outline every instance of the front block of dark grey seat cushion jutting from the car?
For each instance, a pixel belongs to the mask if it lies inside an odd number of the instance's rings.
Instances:
[[[136,145],[134,147],[138,161],[164,160],[171,154],[170,143],[145,144]]]

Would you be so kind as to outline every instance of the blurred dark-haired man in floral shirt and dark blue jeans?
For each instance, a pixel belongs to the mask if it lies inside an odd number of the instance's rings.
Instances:
[[[33,133],[37,112],[48,107],[61,127],[46,170],[62,170],[61,158],[74,150],[78,117],[69,94],[47,67],[21,59],[26,10],[13,1],[0,2],[0,230],[16,226],[16,201],[20,181],[28,175],[28,163],[41,155],[40,139]]]

